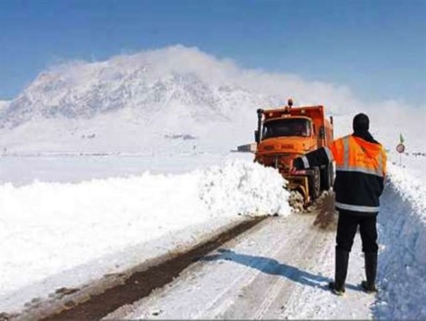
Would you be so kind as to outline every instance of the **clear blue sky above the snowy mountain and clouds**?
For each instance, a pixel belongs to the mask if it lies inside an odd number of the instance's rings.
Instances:
[[[67,59],[196,46],[245,68],[426,104],[426,0],[0,1],[0,98]]]

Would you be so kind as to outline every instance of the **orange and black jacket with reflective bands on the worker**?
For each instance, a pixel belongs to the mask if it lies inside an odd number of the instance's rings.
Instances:
[[[375,215],[383,192],[386,154],[368,131],[355,132],[294,160],[296,169],[335,162],[337,210]]]

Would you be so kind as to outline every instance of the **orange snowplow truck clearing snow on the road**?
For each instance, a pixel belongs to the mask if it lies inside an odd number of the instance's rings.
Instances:
[[[258,109],[258,129],[254,132],[257,143],[255,162],[277,168],[289,184],[298,190],[305,205],[316,199],[322,190],[333,184],[333,163],[322,167],[290,173],[293,159],[328,146],[333,142],[333,118],[325,118],[324,106]]]

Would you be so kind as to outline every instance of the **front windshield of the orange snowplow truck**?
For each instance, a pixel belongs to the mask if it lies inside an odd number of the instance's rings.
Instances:
[[[262,139],[281,136],[311,136],[311,122],[302,118],[269,120],[263,124]]]

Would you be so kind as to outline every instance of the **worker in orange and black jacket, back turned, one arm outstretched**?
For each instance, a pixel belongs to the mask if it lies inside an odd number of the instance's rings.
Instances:
[[[343,295],[348,272],[349,253],[359,225],[362,251],[366,264],[366,281],[361,287],[376,292],[377,227],[379,197],[383,192],[386,154],[368,131],[368,116],[359,113],[353,119],[352,135],[335,140],[328,147],[318,148],[294,160],[295,169],[320,166],[335,161],[335,207],[339,212],[335,250],[335,280],[330,289]]]

